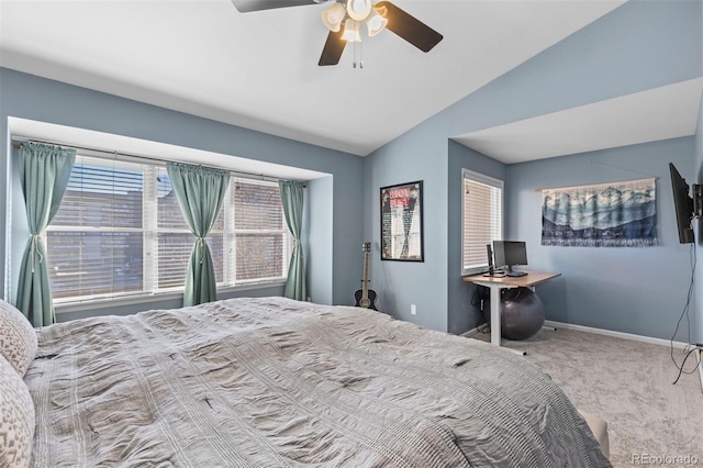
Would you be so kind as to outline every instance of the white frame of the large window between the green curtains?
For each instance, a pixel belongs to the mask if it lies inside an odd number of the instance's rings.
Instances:
[[[77,159],[82,161],[83,164],[96,164],[103,167],[109,167],[110,165],[113,165],[114,158],[97,156],[92,152],[79,152],[79,154],[77,154]],[[116,161],[118,160],[115,160],[115,163]],[[120,229],[125,231],[141,232],[143,235],[143,257],[144,258],[143,258],[142,290],[134,291],[134,292],[114,292],[113,291],[112,293],[105,293],[105,294],[82,296],[82,297],[75,296],[71,298],[54,299],[54,309],[56,313],[93,310],[96,309],[96,307],[100,308],[101,304],[104,307],[107,307],[108,304],[111,307],[119,307],[119,305],[130,305],[130,304],[137,304],[137,303],[164,301],[164,300],[177,299],[182,297],[183,294],[182,286],[169,287],[169,288],[158,287],[158,282],[159,282],[158,258],[157,258],[158,257],[158,252],[157,252],[158,234],[166,233],[166,232],[182,231],[182,230],[174,230],[174,229],[163,230],[157,226],[158,225],[158,221],[157,221],[158,189],[156,187],[157,183],[154,182],[153,183],[154,187],[150,187],[146,181],[149,175],[157,174],[161,169],[165,170],[167,161],[150,160],[148,158],[140,158],[140,157],[125,157],[125,158],[120,158],[118,164],[125,165],[125,166],[126,165],[142,166],[141,170],[143,170],[144,186],[143,186],[143,202],[142,202],[142,207],[143,207],[142,226],[138,229],[136,227]],[[219,214],[219,215],[224,214],[225,216],[225,223],[223,225],[222,231],[220,231],[220,234],[222,235],[222,239],[223,239],[223,252],[228,252],[230,247],[233,250],[236,250],[235,241],[236,241],[236,233],[238,232],[238,230],[233,230],[232,232],[227,231],[228,229],[227,222],[231,221],[232,226],[234,226],[233,220],[234,220],[234,216],[236,215],[234,214],[234,203],[228,202],[230,199],[232,198],[230,197],[230,190],[232,190],[232,187],[235,183],[235,178],[242,182],[254,182],[257,185],[266,185],[266,186],[277,185],[277,181],[272,179],[270,180],[266,179],[263,176],[246,177],[238,172],[232,172],[230,177],[231,177],[230,186],[227,188],[227,196],[226,196],[227,200],[223,202],[223,207],[222,207],[222,210],[224,211],[224,213]],[[153,196],[153,200],[148,199],[148,197],[152,197],[152,196]],[[147,210],[153,211],[153,213],[147,213]],[[228,211],[225,211],[225,210],[228,210]],[[292,237],[291,237],[290,231],[288,230],[288,224],[284,219],[282,207],[281,207],[281,216],[282,216],[281,229],[266,230],[266,232],[276,233],[276,234],[280,233],[281,235],[283,235],[283,254],[282,255],[290,256],[292,248],[290,247],[289,244],[292,244]],[[149,218],[148,222],[147,222],[147,218]],[[93,230],[100,231],[101,229],[93,229]],[[91,227],[83,227],[78,225],[49,224],[49,226],[47,226],[47,229],[42,233],[43,238],[47,243],[48,243],[47,234],[52,231],[87,232],[87,231],[91,231]],[[188,233],[190,234],[190,231],[188,231]],[[230,241],[232,241],[232,244],[228,244]],[[147,258],[149,257],[149,255],[147,254],[149,250],[156,252],[156,256],[152,256],[150,258]],[[51,252],[48,252],[47,255],[51,257]],[[217,282],[219,293],[278,287],[278,286],[284,285],[287,281],[288,265],[284,257],[282,259],[283,267],[282,267],[280,277],[257,278],[257,279],[249,279],[249,280],[236,280],[236,278],[232,278],[228,275],[227,270],[232,270],[235,268],[234,265],[236,259],[227,258],[227,257],[228,255],[223,253],[223,261],[224,261],[223,272],[222,272],[223,281]],[[148,271],[147,271],[147,268],[149,269]],[[183,270],[183,277],[185,277],[185,274],[186,272]]]

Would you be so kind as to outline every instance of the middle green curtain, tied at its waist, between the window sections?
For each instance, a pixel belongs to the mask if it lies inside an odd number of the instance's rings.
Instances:
[[[183,307],[215,301],[215,270],[205,237],[222,208],[230,174],[225,170],[176,163],[168,163],[166,169],[180,211],[190,231],[198,237],[186,271]]]

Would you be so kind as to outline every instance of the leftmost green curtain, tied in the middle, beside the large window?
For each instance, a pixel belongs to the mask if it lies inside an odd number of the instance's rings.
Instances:
[[[54,305],[46,248],[40,234],[58,211],[76,161],[76,151],[23,143],[19,161],[30,239],[22,256],[16,305],[32,325],[45,326],[54,323]]]

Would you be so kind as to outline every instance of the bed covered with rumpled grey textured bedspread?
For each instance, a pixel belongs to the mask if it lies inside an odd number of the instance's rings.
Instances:
[[[33,467],[611,466],[524,358],[366,309],[231,299],[35,334]]]

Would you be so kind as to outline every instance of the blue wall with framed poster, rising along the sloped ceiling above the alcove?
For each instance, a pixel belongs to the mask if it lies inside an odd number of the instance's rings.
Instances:
[[[700,1],[629,1],[368,156],[364,207],[370,216],[364,234],[377,247],[371,279],[382,308],[400,319],[455,333],[476,321],[470,310],[468,317],[460,316],[467,298],[458,289],[458,272],[451,265],[457,234],[449,232],[449,213],[456,213],[460,203],[454,198],[460,171],[455,174],[458,156],[453,156],[448,140],[700,77],[702,19]],[[443,86],[440,77],[431,86]],[[690,152],[692,157],[692,147]],[[461,164],[471,170],[483,166],[476,158]],[[692,159],[688,164],[692,166]],[[378,189],[419,179],[425,181],[426,260],[408,265],[380,261]],[[663,279],[662,287],[670,282]],[[417,315],[410,315],[411,303],[419,304]],[[656,313],[650,310],[646,315]],[[618,320],[599,323],[605,328],[621,326]]]

